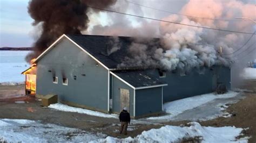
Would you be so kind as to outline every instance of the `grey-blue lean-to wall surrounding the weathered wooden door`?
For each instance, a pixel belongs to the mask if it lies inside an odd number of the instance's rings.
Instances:
[[[134,90],[114,76],[112,76],[112,111],[114,113],[120,112],[120,88],[130,91],[130,115],[134,117]]]

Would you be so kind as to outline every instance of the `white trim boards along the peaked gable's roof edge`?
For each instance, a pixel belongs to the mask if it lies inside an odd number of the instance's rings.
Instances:
[[[51,48],[54,47],[54,45],[57,44],[58,41],[60,41],[63,37],[67,38],[68,40],[70,40],[73,44],[75,44],[78,48],[80,48],[82,51],[84,51],[86,54],[88,54],[89,56],[91,56],[92,59],[94,59],[95,61],[97,61],[100,65],[102,65],[104,68],[106,68],[107,70],[109,70],[109,68],[107,68],[102,62],[100,62],[99,60],[97,60],[93,55],[91,55],[89,52],[85,51],[85,49],[83,49],[82,47],[80,47],[76,42],[74,42],[73,40],[71,40],[68,36],[66,36],[65,34],[63,34],[59,39],[57,39],[55,42],[53,42],[53,44],[47,48],[41,55],[39,55],[36,60],[33,63],[36,63],[39,59],[42,58],[42,56],[44,56],[48,51],[50,51]]]

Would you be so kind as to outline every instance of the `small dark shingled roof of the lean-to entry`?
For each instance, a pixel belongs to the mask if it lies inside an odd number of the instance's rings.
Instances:
[[[166,84],[166,82],[161,81],[158,77],[145,70],[117,70],[112,71],[112,73],[135,88]]]

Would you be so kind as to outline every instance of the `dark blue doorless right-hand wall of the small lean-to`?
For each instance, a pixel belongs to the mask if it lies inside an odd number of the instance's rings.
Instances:
[[[136,116],[162,111],[162,87],[135,90]]]

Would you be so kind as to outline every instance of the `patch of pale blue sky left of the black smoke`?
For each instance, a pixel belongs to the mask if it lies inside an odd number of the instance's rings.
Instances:
[[[0,1],[0,47],[31,46],[33,20],[27,10],[29,0]]]

